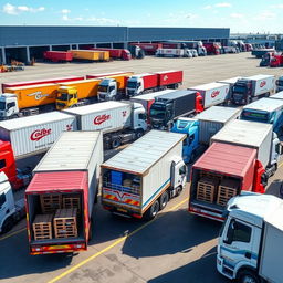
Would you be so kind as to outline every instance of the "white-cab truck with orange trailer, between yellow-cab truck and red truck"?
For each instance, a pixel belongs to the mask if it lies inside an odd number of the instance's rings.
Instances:
[[[103,102],[122,98],[126,92],[127,81],[133,74],[127,72],[103,77],[98,85],[98,99]]]

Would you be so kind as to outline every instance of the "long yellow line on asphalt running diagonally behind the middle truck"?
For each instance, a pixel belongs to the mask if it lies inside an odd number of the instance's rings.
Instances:
[[[168,212],[176,210],[178,207],[180,207],[182,203],[185,203],[186,201],[188,201],[188,198],[184,199],[182,201],[180,201],[179,203],[177,203],[175,207],[170,208],[168,210]],[[94,260],[95,258],[97,258],[98,255],[107,252],[108,250],[111,250],[112,248],[114,248],[115,245],[119,244],[120,242],[123,242],[124,240],[126,240],[127,238],[136,234],[138,231],[143,230],[144,228],[146,228],[147,226],[149,226],[150,223],[153,223],[154,221],[156,221],[157,219],[159,219],[160,217],[165,216],[160,214],[159,217],[153,219],[151,221],[143,224],[142,227],[137,228],[136,230],[134,230],[132,233],[122,237],[120,239],[118,239],[117,241],[115,241],[114,243],[109,244],[108,247],[106,247],[105,249],[103,249],[99,252],[96,252],[95,254],[91,255],[90,258],[85,259],[84,261],[77,263],[76,265],[72,266],[71,269],[66,270],[65,272],[61,273],[60,275],[57,275],[56,277],[50,280],[48,283],[54,283],[57,282],[59,280],[63,279],[64,276],[69,275],[70,273],[72,273],[73,271],[80,269],[81,266],[83,266],[84,264],[86,264],[87,262]]]

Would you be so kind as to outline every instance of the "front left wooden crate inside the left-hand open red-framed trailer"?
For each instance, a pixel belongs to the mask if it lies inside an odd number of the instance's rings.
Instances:
[[[34,240],[52,239],[52,219],[53,214],[38,214],[32,223]]]

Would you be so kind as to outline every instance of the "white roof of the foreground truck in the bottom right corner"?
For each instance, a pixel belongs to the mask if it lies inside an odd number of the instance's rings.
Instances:
[[[232,198],[228,202],[231,216],[262,227],[268,222],[283,230],[283,200],[271,195],[249,193]]]

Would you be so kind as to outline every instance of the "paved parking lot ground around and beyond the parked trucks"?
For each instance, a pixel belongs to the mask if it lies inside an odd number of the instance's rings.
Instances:
[[[1,74],[0,83],[108,71],[144,73],[165,70],[185,71],[182,88],[233,76],[282,75],[282,69],[259,67],[259,60],[247,52],[197,59],[38,63],[23,72]],[[106,158],[113,154],[114,150],[108,151]],[[279,195],[283,167],[280,166],[270,179],[269,193]],[[29,283],[229,282],[216,269],[217,237],[221,224],[189,214],[188,196],[189,184],[150,222],[114,217],[98,203],[93,212],[93,240],[88,251],[82,253],[29,255],[25,222],[22,220],[9,234],[0,238],[0,280]]]

